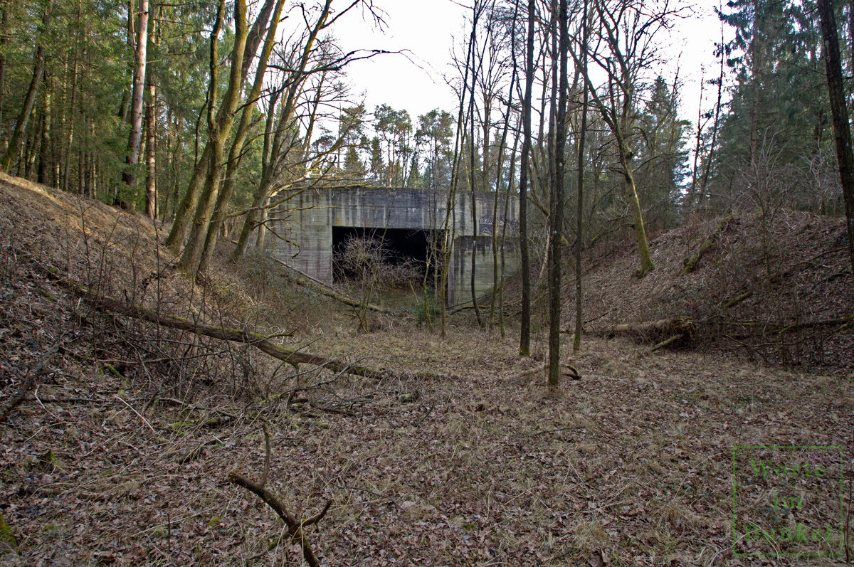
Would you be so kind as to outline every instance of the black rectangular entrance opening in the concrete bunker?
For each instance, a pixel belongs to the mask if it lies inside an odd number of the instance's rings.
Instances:
[[[401,266],[411,262],[418,271],[418,282],[412,282],[415,289],[421,287],[424,270],[427,271],[427,287],[433,289],[436,281],[437,258],[430,256],[430,246],[439,246],[442,242],[443,231],[424,231],[401,228],[369,228],[355,226],[332,227],[332,275],[336,284],[348,281],[356,276],[353,270],[342,265],[342,256],[351,238],[373,240],[380,243],[383,250],[383,261],[392,266]],[[409,285],[406,285],[409,289]]]

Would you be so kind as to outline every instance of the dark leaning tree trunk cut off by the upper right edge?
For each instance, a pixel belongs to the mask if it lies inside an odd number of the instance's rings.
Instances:
[[[845,219],[848,225],[848,252],[854,271],[854,151],[851,149],[851,127],[848,107],[845,104],[845,84],[842,78],[842,57],[839,55],[839,36],[836,18],[830,0],[818,0],[818,15],[824,39],[824,61],[828,68],[828,93],[830,109],[834,115],[836,157],[839,160],[839,177],[845,198]]]

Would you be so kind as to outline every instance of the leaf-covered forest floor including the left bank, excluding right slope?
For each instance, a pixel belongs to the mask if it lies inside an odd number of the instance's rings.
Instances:
[[[854,558],[845,354],[782,370],[585,336],[564,356],[582,380],[549,395],[541,333],[520,359],[513,324],[501,337],[462,315],[442,340],[401,315],[357,334],[261,256],[192,286],[141,216],[13,178],[0,219],[0,408],[35,380],[0,423],[3,564],[303,564],[278,516],[227,480],[260,479],[265,425],[266,487],[296,517],[331,502],[306,530],[324,565]],[[98,310],[60,278],[395,376],[297,373]]]

